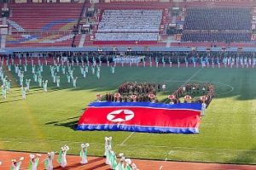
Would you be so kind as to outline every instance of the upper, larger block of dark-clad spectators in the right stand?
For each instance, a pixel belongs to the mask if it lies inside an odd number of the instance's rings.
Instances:
[[[251,8],[188,8],[185,30],[251,30]]]

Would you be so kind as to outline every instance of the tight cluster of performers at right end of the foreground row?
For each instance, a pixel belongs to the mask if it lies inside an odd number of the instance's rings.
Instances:
[[[139,170],[135,163],[131,163],[131,159],[125,159],[123,153],[119,153],[119,162],[112,148],[112,137],[105,137],[105,163],[113,170]]]

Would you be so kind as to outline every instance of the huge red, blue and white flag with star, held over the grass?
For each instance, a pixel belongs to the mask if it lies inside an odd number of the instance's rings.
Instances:
[[[94,102],[79,119],[77,130],[146,133],[199,133],[201,104]]]

